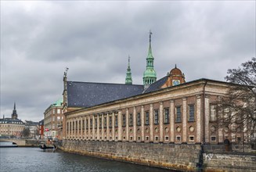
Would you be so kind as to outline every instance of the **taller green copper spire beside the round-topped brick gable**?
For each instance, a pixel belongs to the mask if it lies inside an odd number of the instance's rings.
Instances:
[[[150,87],[150,84],[153,84],[155,81],[157,81],[157,73],[155,70],[153,70],[151,34],[152,32],[150,31],[150,47],[149,47],[148,55],[146,57],[146,70],[143,73],[143,84],[145,89]]]

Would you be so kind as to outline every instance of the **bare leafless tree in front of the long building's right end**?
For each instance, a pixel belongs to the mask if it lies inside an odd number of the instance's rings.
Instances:
[[[256,145],[256,59],[238,69],[228,70],[225,80],[232,83],[227,96],[218,101],[218,127],[229,131],[236,142]]]

